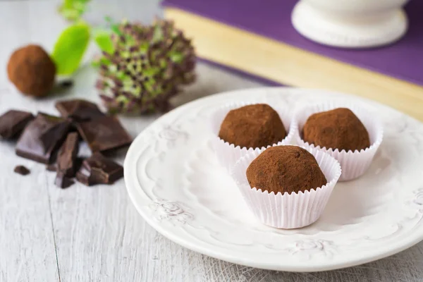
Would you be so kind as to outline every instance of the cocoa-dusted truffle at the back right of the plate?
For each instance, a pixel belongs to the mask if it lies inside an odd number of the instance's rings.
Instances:
[[[353,111],[345,108],[312,114],[302,129],[305,142],[342,151],[370,147],[369,133]]]

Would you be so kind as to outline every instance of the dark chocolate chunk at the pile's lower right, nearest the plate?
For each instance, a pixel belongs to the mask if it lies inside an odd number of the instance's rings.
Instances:
[[[123,167],[99,152],[82,162],[76,179],[87,186],[96,184],[112,184],[123,177]]]

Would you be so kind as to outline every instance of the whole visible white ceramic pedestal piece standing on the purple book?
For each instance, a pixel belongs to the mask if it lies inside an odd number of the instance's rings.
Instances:
[[[378,47],[407,31],[407,0],[300,0],[292,13],[295,30],[321,44]]]

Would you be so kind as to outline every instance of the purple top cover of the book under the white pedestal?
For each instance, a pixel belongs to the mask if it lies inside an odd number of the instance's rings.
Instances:
[[[300,49],[423,85],[422,0],[412,0],[405,7],[410,28],[403,39],[387,47],[360,50],[326,47],[299,35],[290,22],[290,14],[296,2],[295,0],[166,0],[163,5],[197,13]]]

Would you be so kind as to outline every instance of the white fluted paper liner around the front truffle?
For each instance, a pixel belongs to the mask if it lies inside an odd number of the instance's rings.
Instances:
[[[305,148],[307,149],[307,148]],[[250,188],[246,171],[251,162],[265,149],[248,152],[233,166],[232,177],[238,185],[248,207],[262,223],[276,228],[300,228],[319,219],[326,207],[333,187],[341,176],[338,161],[321,151],[307,149],[314,155],[328,183],[305,192],[292,192],[283,195],[262,189]]]

